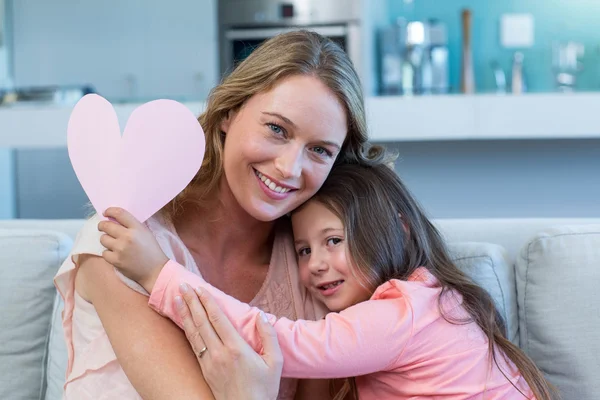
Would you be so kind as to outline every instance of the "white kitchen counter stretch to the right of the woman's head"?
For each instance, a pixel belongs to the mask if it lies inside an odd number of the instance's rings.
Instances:
[[[375,141],[600,138],[600,93],[377,97]]]

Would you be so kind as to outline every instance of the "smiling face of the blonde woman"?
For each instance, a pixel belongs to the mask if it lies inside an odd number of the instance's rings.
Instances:
[[[252,96],[221,129],[229,190],[252,217],[272,221],[321,187],[347,121],[343,105],[318,78],[293,76]]]

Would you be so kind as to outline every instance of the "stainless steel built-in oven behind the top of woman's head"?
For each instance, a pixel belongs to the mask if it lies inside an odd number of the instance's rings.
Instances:
[[[220,0],[220,71],[226,74],[263,41],[294,29],[327,36],[346,50],[366,94],[375,90],[375,32],[385,23],[384,0]]]

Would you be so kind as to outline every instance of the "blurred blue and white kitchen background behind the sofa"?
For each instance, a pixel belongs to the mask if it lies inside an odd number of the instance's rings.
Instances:
[[[0,0],[0,219],[81,218],[66,151],[99,93],[122,126],[200,113],[265,39],[316,30],[363,81],[372,140],[433,217],[600,217],[600,1]]]

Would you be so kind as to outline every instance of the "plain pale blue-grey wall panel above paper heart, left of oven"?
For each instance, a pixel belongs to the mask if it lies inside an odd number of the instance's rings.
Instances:
[[[111,101],[203,99],[217,0],[9,0],[17,86],[93,84]]]

